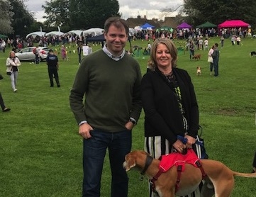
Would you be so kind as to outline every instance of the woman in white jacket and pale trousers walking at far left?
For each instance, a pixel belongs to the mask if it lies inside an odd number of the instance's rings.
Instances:
[[[6,72],[10,75],[11,78],[11,87],[13,92],[16,92],[16,84],[18,79],[18,67],[21,65],[20,60],[15,57],[15,52],[11,51],[9,57],[6,59]]]

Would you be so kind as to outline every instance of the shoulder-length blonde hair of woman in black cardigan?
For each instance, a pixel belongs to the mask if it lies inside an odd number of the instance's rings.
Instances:
[[[177,67],[177,55],[178,55],[178,50],[177,47],[174,45],[174,43],[172,43],[172,40],[169,40],[167,38],[157,38],[151,48],[150,51],[150,60],[149,60],[149,64],[148,67],[151,70],[154,70],[155,67],[157,66],[157,46],[163,44],[166,45],[167,49],[170,52],[170,55],[172,56],[172,67]]]

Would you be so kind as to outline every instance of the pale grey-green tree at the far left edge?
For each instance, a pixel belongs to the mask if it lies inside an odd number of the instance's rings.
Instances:
[[[0,33],[2,34],[13,33],[13,27],[11,26],[13,12],[10,10],[10,1],[0,0]]]

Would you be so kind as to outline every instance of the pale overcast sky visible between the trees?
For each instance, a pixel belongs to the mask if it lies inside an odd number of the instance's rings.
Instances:
[[[127,19],[130,17],[137,18],[147,16],[148,19],[158,18],[164,19],[164,13],[162,9],[172,8],[176,9],[178,6],[184,4],[183,0],[118,0],[119,12],[122,13],[122,18]],[[43,22],[43,16],[45,15],[42,5],[45,4],[45,0],[27,0],[25,4],[28,6],[28,11],[35,13],[35,18]]]

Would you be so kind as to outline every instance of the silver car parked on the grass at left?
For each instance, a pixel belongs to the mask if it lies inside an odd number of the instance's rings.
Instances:
[[[18,57],[20,61],[28,61],[28,60],[35,60],[35,54],[33,53],[33,49],[35,47],[26,47],[20,50],[19,52],[15,53],[15,56]],[[48,47],[38,47],[39,49],[39,60],[43,61],[46,60],[46,57],[49,52]]]

